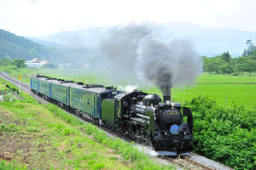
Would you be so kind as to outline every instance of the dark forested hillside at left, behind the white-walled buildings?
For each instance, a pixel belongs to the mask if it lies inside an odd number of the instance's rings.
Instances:
[[[64,54],[56,48],[45,47],[25,37],[19,37],[0,29],[0,59],[6,55],[11,58],[27,60],[47,59],[51,62],[58,62],[64,58]]]

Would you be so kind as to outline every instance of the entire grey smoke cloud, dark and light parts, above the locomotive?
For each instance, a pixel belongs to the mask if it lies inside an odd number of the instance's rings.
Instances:
[[[137,76],[171,95],[173,86],[195,81],[201,62],[191,42],[170,41],[161,30],[152,24],[115,27],[102,38],[101,49],[115,76]]]

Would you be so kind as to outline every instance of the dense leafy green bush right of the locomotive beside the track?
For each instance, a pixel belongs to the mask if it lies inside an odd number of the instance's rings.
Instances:
[[[235,169],[255,169],[255,108],[248,110],[235,104],[224,107],[202,96],[185,105],[195,120],[195,152]]]

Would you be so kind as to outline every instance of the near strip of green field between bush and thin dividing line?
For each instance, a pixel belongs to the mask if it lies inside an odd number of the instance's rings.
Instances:
[[[193,87],[172,89],[173,99],[179,102],[199,95],[215,98],[220,105],[242,102],[252,108],[256,105],[256,84],[195,84]]]

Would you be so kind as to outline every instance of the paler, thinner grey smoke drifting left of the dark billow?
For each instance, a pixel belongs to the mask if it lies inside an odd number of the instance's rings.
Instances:
[[[134,63],[140,40],[151,32],[148,25],[113,27],[102,37],[100,49],[107,56],[111,74],[117,78],[135,77]]]

